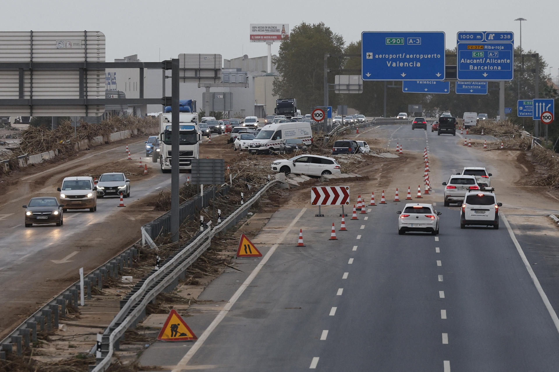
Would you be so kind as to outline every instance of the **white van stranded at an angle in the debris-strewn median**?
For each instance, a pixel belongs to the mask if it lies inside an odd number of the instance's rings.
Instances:
[[[277,123],[264,125],[254,140],[249,144],[250,154],[268,154],[270,150],[279,152],[286,138],[298,138],[305,145],[312,144],[311,124],[306,121],[296,123]]]

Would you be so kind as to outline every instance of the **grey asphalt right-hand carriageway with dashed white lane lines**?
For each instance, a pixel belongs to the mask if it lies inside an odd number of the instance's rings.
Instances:
[[[497,155],[459,145],[463,136],[405,125],[359,136],[368,138],[385,139],[391,149],[399,142],[408,154],[428,148],[433,193],[414,201],[442,212],[439,236],[397,234],[396,211],[406,203],[402,190],[421,180],[422,167],[394,174],[387,205],[371,206],[357,221],[346,219],[349,231],[337,231],[337,241],[328,238],[331,223],[339,229],[339,208],[323,208],[324,218],[315,217],[310,205],[278,210],[253,239],[264,257],[238,260],[243,272],[227,271],[200,296],[215,307],[195,307],[186,318],[200,339],[154,343],[141,364],[175,372],[557,370],[553,308],[559,303],[547,295],[557,293],[559,282],[538,269],[546,284],[543,290],[534,284],[536,275],[524,261],[527,238],[519,242],[511,233],[524,227],[509,228],[503,219],[499,230],[460,229],[459,209],[443,207],[441,182],[463,166],[486,166],[498,197],[503,195],[501,213],[522,211],[508,195],[514,186],[504,182],[509,171],[500,171]],[[391,201],[395,187],[399,203]],[[365,189],[371,187],[356,186]],[[529,212],[543,215],[556,206],[542,202]],[[306,247],[296,247],[300,228]]]

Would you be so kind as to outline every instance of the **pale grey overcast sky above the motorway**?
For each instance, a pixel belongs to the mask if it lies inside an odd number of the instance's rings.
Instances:
[[[102,31],[107,62],[131,54],[144,62],[179,53],[266,55],[265,43],[249,41],[250,23],[288,23],[292,29],[303,21],[324,22],[346,43],[361,39],[362,31],[444,31],[450,49],[457,31],[513,31],[516,46],[520,22],[514,20],[523,17],[523,49],[543,55],[554,80],[559,68],[559,0],[6,0],[2,15],[2,31]]]

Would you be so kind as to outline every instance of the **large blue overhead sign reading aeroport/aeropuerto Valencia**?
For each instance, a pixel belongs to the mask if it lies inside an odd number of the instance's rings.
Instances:
[[[361,33],[363,80],[444,80],[444,32]]]

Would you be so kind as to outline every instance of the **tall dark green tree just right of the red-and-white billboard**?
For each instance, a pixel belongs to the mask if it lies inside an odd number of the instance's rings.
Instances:
[[[273,94],[280,98],[296,98],[297,109],[310,112],[324,103],[324,54],[342,54],[343,37],[334,34],[323,22],[311,25],[302,22],[293,27],[289,39],[282,41],[276,59],[281,78],[274,79]],[[328,67],[339,69],[341,62],[330,59]],[[334,83],[334,74],[328,82]],[[329,105],[338,104],[335,93],[329,95]],[[268,111],[269,110],[268,108]]]

